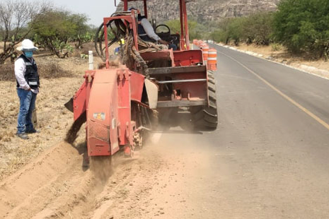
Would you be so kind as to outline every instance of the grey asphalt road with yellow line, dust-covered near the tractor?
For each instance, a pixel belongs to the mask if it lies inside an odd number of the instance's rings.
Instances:
[[[186,165],[167,216],[329,218],[329,81],[215,47],[217,131],[159,137]]]

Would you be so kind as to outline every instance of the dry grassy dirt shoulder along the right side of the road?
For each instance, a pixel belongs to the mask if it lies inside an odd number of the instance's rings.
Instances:
[[[233,47],[233,46],[230,46]],[[270,61],[276,61],[287,66],[313,73],[317,76],[329,79],[329,61],[321,60],[308,60],[308,57],[293,57],[292,54],[287,52],[284,47],[276,48],[277,51],[273,51],[273,47],[270,46],[255,46],[241,44],[238,47],[233,47],[241,52],[246,52],[255,57],[261,57]]]

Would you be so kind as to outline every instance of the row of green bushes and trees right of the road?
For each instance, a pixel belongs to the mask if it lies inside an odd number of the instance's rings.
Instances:
[[[292,54],[311,59],[329,56],[329,3],[320,0],[284,0],[276,12],[259,12],[246,17],[227,18],[216,30],[204,37],[217,42],[239,45],[281,45]]]

